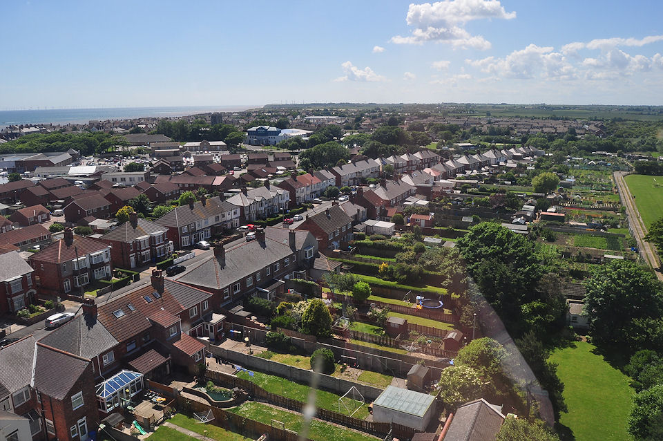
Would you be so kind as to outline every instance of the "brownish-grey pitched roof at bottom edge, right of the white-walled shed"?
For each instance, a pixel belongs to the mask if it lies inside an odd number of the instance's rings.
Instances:
[[[458,408],[445,441],[494,441],[504,415],[486,400],[475,400]]]

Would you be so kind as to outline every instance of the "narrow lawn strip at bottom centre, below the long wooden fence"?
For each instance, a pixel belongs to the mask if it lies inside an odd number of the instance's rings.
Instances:
[[[272,424],[271,420],[277,420],[285,424],[285,428],[291,431],[301,433],[303,426],[303,417],[297,413],[282,411],[269,406],[268,404],[245,402],[241,406],[229,409],[232,413],[242,415],[251,420],[256,420],[264,424]],[[275,423],[276,424],[276,423]],[[280,426],[280,424],[278,424]],[[334,426],[317,420],[311,421],[311,426],[307,438],[313,441],[376,441],[375,438],[366,433],[359,433],[345,427]]]

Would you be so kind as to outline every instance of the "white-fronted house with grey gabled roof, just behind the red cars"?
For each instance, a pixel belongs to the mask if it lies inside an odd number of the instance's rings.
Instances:
[[[269,181],[266,182],[269,185]],[[240,209],[240,218],[245,221],[276,216],[285,212],[290,201],[290,192],[278,187],[258,187],[247,189],[231,196],[227,202]]]

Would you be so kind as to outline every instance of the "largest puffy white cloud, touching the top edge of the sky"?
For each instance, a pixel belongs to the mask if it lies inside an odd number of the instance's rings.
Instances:
[[[407,24],[413,26],[407,37],[396,35],[394,44],[423,44],[426,41],[445,42],[454,48],[486,50],[490,41],[481,35],[470,35],[462,26],[479,19],[514,19],[515,12],[506,12],[499,0],[444,0],[435,3],[410,4]]]

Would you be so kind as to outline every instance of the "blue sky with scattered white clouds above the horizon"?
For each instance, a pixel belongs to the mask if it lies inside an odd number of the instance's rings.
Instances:
[[[0,110],[663,104],[663,1],[3,1]]]

